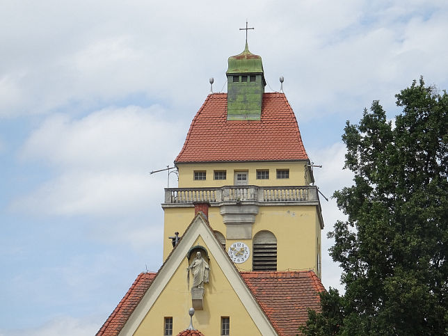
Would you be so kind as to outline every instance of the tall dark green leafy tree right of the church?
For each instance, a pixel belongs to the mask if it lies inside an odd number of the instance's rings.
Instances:
[[[394,126],[373,102],[342,136],[355,177],[333,195],[348,219],[328,234],[346,289],[339,335],[448,335],[448,95],[421,78],[395,97]],[[333,323],[326,309],[305,335]]]

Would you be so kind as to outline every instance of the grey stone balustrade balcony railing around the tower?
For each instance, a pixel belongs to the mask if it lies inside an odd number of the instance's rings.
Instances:
[[[166,188],[165,203],[310,202],[318,201],[317,186],[221,186]]]

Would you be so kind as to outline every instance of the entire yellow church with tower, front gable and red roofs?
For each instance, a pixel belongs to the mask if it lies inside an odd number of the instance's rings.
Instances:
[[[165,189],[163,264],[138,275],[97,336],[294,336],[320,310],[323,221],[296,116],[285,94],[264,92],[247,39],[226,74]]]

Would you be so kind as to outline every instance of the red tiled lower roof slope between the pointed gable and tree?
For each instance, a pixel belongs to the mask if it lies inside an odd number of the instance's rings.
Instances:
[[[307,308],[320,311],[325,291],[313,271],[241,272],[250,291],[279,335],[297,335],[308,319]]]

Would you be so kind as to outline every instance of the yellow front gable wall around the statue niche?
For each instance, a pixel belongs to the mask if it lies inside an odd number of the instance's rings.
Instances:
[[[194,245],[205,246],[208,250],[201,237]],[[209,257],[210,274],[209,284],[205,285],[204,310],[196,310],[193,326],[204,335],[221,335],[221,317],[230,317],[230,335],[261,335],[216,259],[211,254]],[[188,311],[192,303],[186,280],[188,266],[185,258],[134,335],[163,335],[164,317],[173,317],[173,335],[189,326]],[[190,277],[190,286],[192,281]]]

